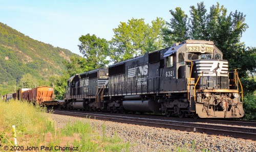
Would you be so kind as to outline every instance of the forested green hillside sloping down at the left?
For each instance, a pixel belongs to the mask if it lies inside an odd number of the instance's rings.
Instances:
[[[12,92],[20,80],[31,77],[33,85],[47,85],[52,75],[66,70],[63,61],[75,54],[34,40],[0,22],[0,94]],[[76,55],[78,56],[78,55]],[[23,82],[26,83],[26,82]]]

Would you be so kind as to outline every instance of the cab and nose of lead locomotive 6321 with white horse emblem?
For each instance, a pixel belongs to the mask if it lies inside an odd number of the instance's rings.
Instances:
[[[184,106],[175,104],[170,112],[181,114],[188,108],[187,114],[201,118],[237,118],[244,115],[238,73],[228,71],[228,61],[222,59],[222,52],[212,41],[186,40],[170,47],[164,58],[164,81],[170,84],[164,83],[165,90],[187,90],[188,103],[177,100],[176,103]],[[164,110],[166,113],[166,108]]]

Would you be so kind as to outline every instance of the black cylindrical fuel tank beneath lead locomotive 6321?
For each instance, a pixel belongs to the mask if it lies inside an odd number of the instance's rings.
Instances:
[[[124,100],[123,108],[126,111],[158,113],[161,105],[154,100]]]

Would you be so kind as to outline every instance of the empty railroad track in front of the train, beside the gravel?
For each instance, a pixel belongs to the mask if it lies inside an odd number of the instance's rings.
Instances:
[[[255,126],[256,122],[253,121],[228,121],[224,120],[214,120],[216,122],[212,122],[212,120],[205,119],[176,119],[176,118],[168,118],[168,117],[160,117],[160,116],[151,116],[151,115],[124,115],[124,114],[112,114],[112,113],[93,113],[93,112],[84,112],[84,111],[65,111],[65,110],[54,110],[54,114],[60,115],[69,115],[75,117],[84,117],[105,121],[114,121],[121,123],[130,123],[130,124],[138,124],[145,126],[154,126],[158,128],[167,128],[181,131],[189,131],[189,132],[198,132],[205,133],[211,135],[221,135],[221,136],[230,136],[234,138],[243,138],[243,139],[251,139],[256,140],[256,128],[249,128],[248,126]],[[197,121],[197,122],[191,122]],[[205,123],[207,122],[207,123]],[[221,123],[222,122],[222,123]],[[248,126],[242,126],[244,124]],[[215,124],[213,124],[215,123]],[[216,124],[220,123],[220,124]],[[230,124],[232,126],[230,126]],[[233,126],[233,125],[239,126]]]

